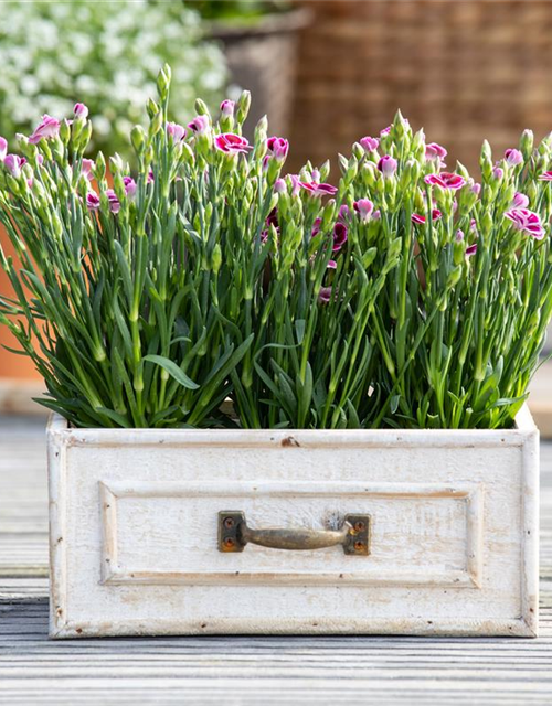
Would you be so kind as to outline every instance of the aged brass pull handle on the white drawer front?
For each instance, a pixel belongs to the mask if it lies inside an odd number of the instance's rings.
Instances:
[[[219,552],[243,552],[246,544],[272,549],[312,550],[341,545],[346,554],[370,554],[370,515],[346,515],[339,530],[273,528],[253,530],[245,513],[219,513]]]

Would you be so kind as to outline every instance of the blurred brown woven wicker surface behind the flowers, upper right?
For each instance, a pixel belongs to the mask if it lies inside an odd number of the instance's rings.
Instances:
[[[548,0],[298,2],[315,22],[301,41],[290,170],[329,158],[337,174],[338,152],[378,137],[399,108],[448,149],[449,167],[476,173],[484,138],[498,159],[524,128],[550,130]]]

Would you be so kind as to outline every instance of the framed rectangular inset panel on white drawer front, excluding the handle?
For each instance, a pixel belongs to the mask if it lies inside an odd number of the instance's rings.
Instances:
[[[100,482],[105,584],[480,584],[482,485],[343,482]],[[370,554],[341,546],[217,548],[220,511],[248,525],[338,530],[368,514]]]

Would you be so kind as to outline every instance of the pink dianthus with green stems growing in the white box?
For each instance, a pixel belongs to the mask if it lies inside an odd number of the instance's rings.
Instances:
[[[76,426],[507,427],[552,309],[552,139],[480,183],[397,114],[329,164],[284,174],[287,140],[248,95],[168,121],[170,71],[131,142],[84,159],[92,126],[45,116],[0,141],[17,252],[0,301]],[[231,410],[223,402],[233,403]]]

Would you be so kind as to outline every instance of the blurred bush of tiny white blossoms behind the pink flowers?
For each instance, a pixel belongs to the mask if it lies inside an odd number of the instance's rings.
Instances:
[[[163,62],[173,68],[173,119],[193,114],[198,95],[220,103],[224,56],[180,1],[0,2],[0,133],[66,115],[78,96],[94,116],[91,149],[125,151]]]

